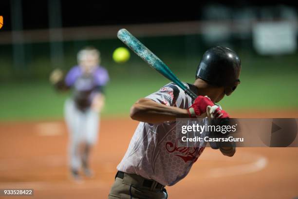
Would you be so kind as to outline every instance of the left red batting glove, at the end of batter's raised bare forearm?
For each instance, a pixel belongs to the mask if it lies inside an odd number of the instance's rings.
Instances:
[[[213,106],[214,103],[204,96],[197,97],[193,104],[187,109],[190,118],[196,118],[206,112],[207,106]]]

